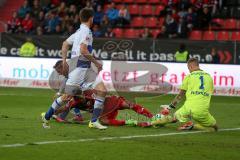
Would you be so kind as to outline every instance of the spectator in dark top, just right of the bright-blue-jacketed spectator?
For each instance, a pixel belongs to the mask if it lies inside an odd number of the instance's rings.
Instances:
[[[123,27],[125,25],[130,24],[130,14],[128,11],[128,8],[126,5],[122,5],[122,7],[120,8],[120,10],[118,11],[118,26],[119,27]]]

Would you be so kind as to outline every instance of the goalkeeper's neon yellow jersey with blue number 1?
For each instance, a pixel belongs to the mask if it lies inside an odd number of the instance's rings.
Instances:
[[[202,71],[194,71],[187,75],[181,86],[186,91],[185,106],[193,111],[208,111],[213,93],[212,77]]]

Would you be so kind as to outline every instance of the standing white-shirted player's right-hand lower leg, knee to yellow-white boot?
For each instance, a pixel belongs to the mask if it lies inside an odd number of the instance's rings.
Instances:
[[[96,97],[94,102],[94,109],[93,109],[93,115],[92,119],[89,122],[89,128],[97,128],[97,129],[106,129],[106,126],[103,126],[99,123],[99,117],[102,113],[103,107],[104,107],[104,101],[106,96],[106,88],[103,84],[103,82],[100,82],[95,87]]]

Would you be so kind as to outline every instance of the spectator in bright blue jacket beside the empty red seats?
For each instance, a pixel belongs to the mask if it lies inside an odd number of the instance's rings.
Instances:
[[[106,15],[111,23],[112,26],[115,26],[118,19],[118,10],[115,8],[115,3],[112,2],[110,5],[108,5],[108,10],[106,12]]]

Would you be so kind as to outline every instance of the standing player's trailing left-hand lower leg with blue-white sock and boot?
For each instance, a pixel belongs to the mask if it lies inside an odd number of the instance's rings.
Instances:
[[[50,128],[49,120],[54,115],[55,110],[66,104],[69,99],[70,96],[68,95],[62,95],[61,97],[58,97],[57,99],[54,100],[48,111],[46,113],[41,114],[44,128]]]

